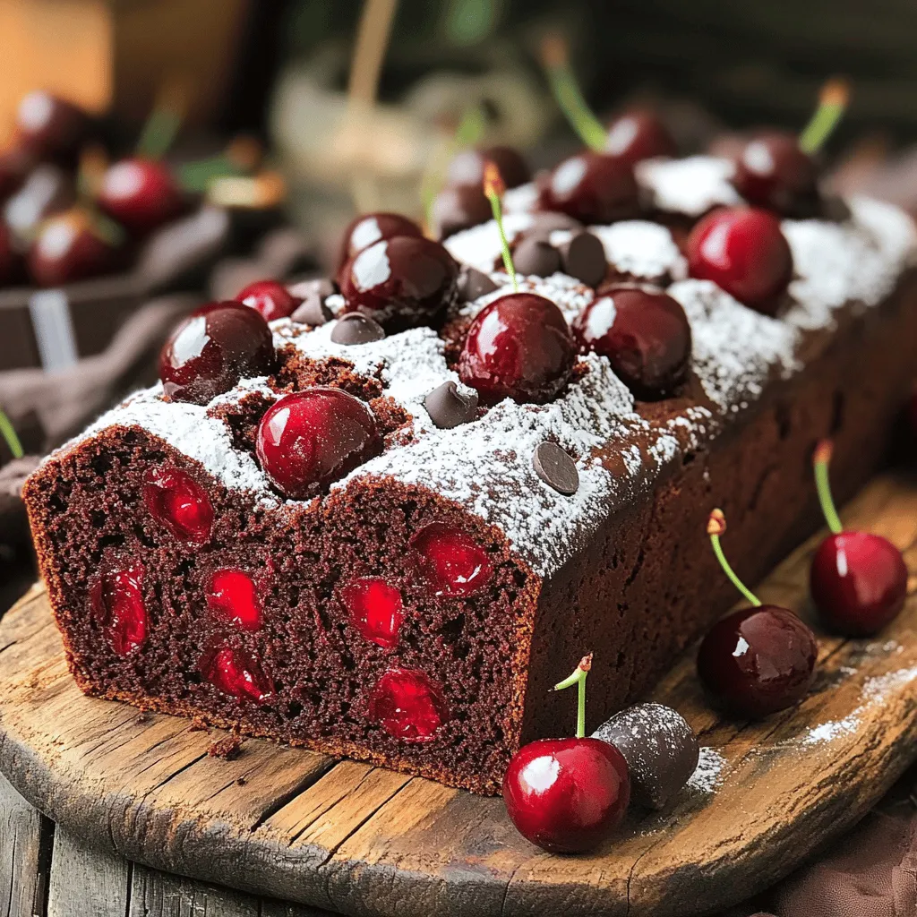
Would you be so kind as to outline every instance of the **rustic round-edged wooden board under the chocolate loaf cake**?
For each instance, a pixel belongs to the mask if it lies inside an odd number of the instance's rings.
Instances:
[[[845,513],[917,574],[917,482],[875,481]],[[809,615],[801,547],[762,584]],[[727,544],[728,547],[728,544]],[[83,842],[150,867],[346,914],[384,917],[713,911],[788,873],[849,827],[917,758],[917,575],[871,640],[819,632],[801,707],[748,724],[704,703],[686,657],[655,692],[701,738],[702,765],[666,812],[632,812],[590,856],[550,856],[499,799],[84,697],[44,591],[0,622],[0,769]]]

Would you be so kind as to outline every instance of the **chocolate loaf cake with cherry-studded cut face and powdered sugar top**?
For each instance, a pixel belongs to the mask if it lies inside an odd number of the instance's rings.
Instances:
[[[646,166],[660,220],[735,203],[719,160]],[[533,202],[526,186],[507,195],[511,238]],[[705,545],[711,506],[754,581],[818,525],[820,437],[834,437],[841,495],[881,460],[917,374],[911,220],[852,200],[842,221],[782,229],[795,273],[772,317],[688,278],[661,221],[591,227],[609,277],[664,285],[688,317],[690,370],[661,400],[635,400],[608,359],[584,353],[559,392],[517,403],[481,387],[478,402],[457,354],[509,292],[493,224],[447,241],[492,291],[456,304],[449,288],[438,330],[282,318],[259,371],[228,391],[176,400],[193,383],[170,377],[138,392],[26,486],[75,678],[105,698],[498,791],[521,743],[564,731],[568,704],[549,689],[584,652],[591,729],[733,601]],[[598,295],[563,273],[519,285],[570,322]],[[337,294],[323,305],[348,309]],[[283,425],[335,402],[344,413],[326,432],[354,444],[348,463],[299,487],[308,457],[278,458]]]

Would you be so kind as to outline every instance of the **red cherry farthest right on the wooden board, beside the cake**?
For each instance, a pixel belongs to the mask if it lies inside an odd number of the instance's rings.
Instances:
[[[841,532],[825,538],[815,552],[809,582],[826,624],[848,636],[868,636],[904,607],[908,569],[888,538]]]

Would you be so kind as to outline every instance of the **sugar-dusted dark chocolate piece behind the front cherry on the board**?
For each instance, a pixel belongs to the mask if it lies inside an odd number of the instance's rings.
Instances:
[[[691,778],[700,750],[691,726],[661,703],[638,703],[615,713],[592,733],[627,762],[635,801],[663,808]]]

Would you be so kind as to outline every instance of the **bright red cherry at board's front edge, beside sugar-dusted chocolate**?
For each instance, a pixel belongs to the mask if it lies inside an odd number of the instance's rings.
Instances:
[[[624,819],[630,775],[624,756],[593,738],[539,739],[519,749],[503,777],[514,825],[543,850],[593,850]]]

